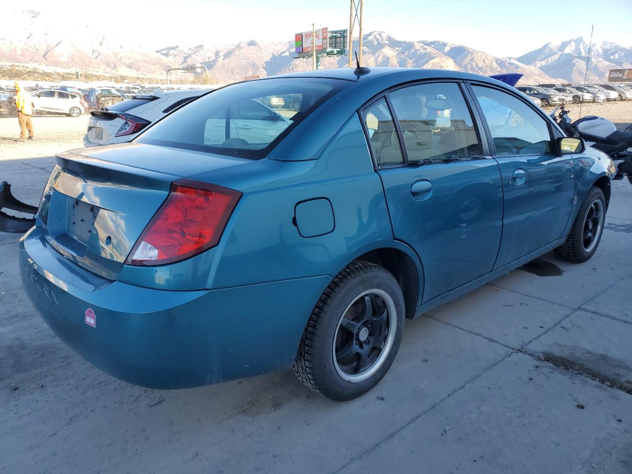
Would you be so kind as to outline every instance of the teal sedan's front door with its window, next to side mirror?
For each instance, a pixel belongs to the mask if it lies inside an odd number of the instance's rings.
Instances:
[[[573,157],[556,154],[549,123],[531,104],[495,88],[472,88],[502,174],[499,268],[564,235],[573,207]]]

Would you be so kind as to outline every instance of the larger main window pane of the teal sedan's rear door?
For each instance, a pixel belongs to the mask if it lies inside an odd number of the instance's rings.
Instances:
[[[478,137],[456,83],[411,85],[389,94],[409,162],[480,156]]]

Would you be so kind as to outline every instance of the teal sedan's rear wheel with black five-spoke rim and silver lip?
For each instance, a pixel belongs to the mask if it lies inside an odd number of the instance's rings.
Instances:
[[[301,339],[294,371],[336,401],[372,389],[391,367],[404,329],[404,297],[379,265],[349,264],[320,296]]]

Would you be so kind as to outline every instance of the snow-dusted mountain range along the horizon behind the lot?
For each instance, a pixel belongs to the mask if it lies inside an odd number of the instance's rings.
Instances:
[[[450,69],[486,76],[521,73],[522,83],[550,80],[576,83],[583,81],[588,48],[588,43],[580,37],[561,44],[545,44],[518,58],[497,58],[465,45],[438,40],[404,41],[375,31],[363,37],[363,65]],[[123,45],[107,30],[98,32],[89,25],[70,30],[33,10],[6,12],[0,29],[0,61],[5,63],[61,66],[139,78],[163,78],[167,68],[195,63],[206,66],[212,82],[310,69],[311,61],[293,59],[292,49],[293,42],[250,40],[226,46],[173,45],[147,51],[138,44],[130,44],[128,39]],[[328,57],[322,59],[321,68],[347,64],[347,57]],[[606,80],[608,70],[615,68],[632,68],[632,48],[613,42],[593,44],[588,82]]]

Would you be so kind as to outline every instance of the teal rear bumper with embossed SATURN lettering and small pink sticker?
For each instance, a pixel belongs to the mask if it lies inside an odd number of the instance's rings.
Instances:
[[[289,367],[331,281],[318,276],[202,291],[142,288],[83,270],[49,246],[39,228],[20,239],[20,269],[33,306],[64,343],[107,374],[159,389]]]

